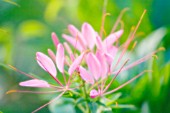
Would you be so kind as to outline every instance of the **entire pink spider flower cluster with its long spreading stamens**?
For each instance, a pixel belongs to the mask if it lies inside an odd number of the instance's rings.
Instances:
[[[143,18],[143,15],[141,16],[141,19]],[[119,90],[148,71],[145,70],[116,89],[110,90],[111,84],[119,73],[148,60],[157,52],[154,51],[128,65],[127,62],[129,61],[129,58],[123,60],[129,45],[135,37],[141,19],[134,31],[130,33],[130,37],[121,46],[118,46],[116,42],[122,36],[124,32],[123,29],[112,32],[106,38],[103,38],[102,35],[99,35],[88,23],[82,25],[81,31],[75,26],[69,25],[68,31],[70,35],[62,35],[62,38],[66,40],[64,43],[61,43],[57,35],[53,32],[52,40],[56,47],[56,54],[51,49],[48,49],[48,55],[37,52],[36,60],[39,66],[56,81],[56,84],[51,84],[46,80],[25,74],[11,66],[14,70],[31,78],[31,80],[19,83],[20,86],[49,88],[52,90],[46,92],[11,90],[8,93],[27,92],[39,94],[61,92],[55,99],[33,111],[36,112],[60,98],[68,91],[78,95],[80,92],[77,91],[77,89],[80,90],[80,87],[84,87],[85,91],[83,93],[85,93],[86,98],[87,95],[89,95],[90,98],[103,97]],[[123,62],[123,64],[120,62]],[[121,67],[117,68],[118,65],[121,65]],[[57,73],[60,73],[59,75],[63,76],[62,81],[60,80],[61,77],[60,79],[57,77]]]

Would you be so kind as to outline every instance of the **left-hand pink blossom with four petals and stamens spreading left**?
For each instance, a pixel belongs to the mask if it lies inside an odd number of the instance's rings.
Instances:
[[[43,106],[39,107],[38,109],[34,110],[32,113],[37,112],[38,110],[42,109],[43,107],[45,107],[46,105],[50,104],[51,102],[53,102],[54,100],[60,98],[65,92],[67,91],[72,91],[74,90],[76,87],[71,88],[71,84],[72,84],[72,73],[77,69],[77,67],[80,65],[80,63],[82,62],[82,59],[84,57],[84,55],[87,52],[82,52],[82,54],[80,56],[78,56],[71,65],[69,65],[69,69],[68,69],[68,73],[69,74],[67,77],[68,80],[66,80],[66,76],[65,76],[65,54],[64,54],[64,47],[61,43],[57,44],[57,53],[56,55],[53,54],[53,52],[51,50],[48,50],[50,56],[52,56],[52,58],[55,57],[55,63],[54,61],[48,57],[47,55],[45,55],[42,52],[37,52],[36,53],[36,60],[37,63],[39,64],[39,66],[45,70],[51,77],[52,79],[54,79],[56,81],[56,85],[52,85],[50,83],[48,83],[46,80],[42,80],[42,79],[38,79],[36,77],[33,77],[29,74],[26,74],[18,69],[16,69],[13,66],[10,66],[12,69],[14,69],[15,71],[18,71],[22,74],[25,74],[26,76],[30,77],[31,80],[27,80],[27,81],[23,81],[20,82],[19,85],[23,86],[23,87],[36,87],[36,88],[49,88],[52,89],[51,91],[46,91],[46,92],[37,92],[37,91],[26,91],[26,90],[10,90],[7,92],[7,94],[9,93],[14,93],[14,92],[20,92],[20,93],[37,93],[37,94],[44,94],[44,93],[57,93],[57,92],[61,92],[60,95],[58,95],[56,98],[54,98],[53,100],[51,100],[50,102],[44,104]],[[60,73],[62,73],[63,75],[63,79],[65,81],[65,85],[57,78],[57,70],[56,70],[56,66],[59,70]]]

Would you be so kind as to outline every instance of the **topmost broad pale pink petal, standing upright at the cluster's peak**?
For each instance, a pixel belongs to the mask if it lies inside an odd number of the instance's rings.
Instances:
[[[93,49],[96,40],[96,33],[92,26],[88,23],[82,25],[82,35],[84,36],[90,49]]]

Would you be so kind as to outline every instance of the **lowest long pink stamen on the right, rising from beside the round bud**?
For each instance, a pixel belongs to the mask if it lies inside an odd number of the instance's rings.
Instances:
[[[139,78],[140,76],[142,76],[142,75],[143,75],[144,73],[146,73],[146,72],[152,72],[152,70],[145,70],[145,71],[139,73],[138,75],[136,75],[135,77],[133,77],[133,78],[130,79],[129,81],[127,81],[127,82],[125,82],[124,84],[120,85],[119,87],[115,88],[114,90],[105,93],[104,96],[105,96],[105,95],[108,95],[108,94],[111,94],[111,93],[113,93],[113,92],[115,92],[115,91],[123,88],[124,86],[126,86],[127,84],[133,82],[134,80],[136,80],[137,78]]]

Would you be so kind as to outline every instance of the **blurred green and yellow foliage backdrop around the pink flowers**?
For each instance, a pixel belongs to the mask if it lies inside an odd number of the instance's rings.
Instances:
[[[136,109],[116,109],[115,113],[170,113],[169,6],[169,0],[108,0],[106,12],[111,15],[106,17],[107,34],[121,10],[129,8],[122,18],[125,33],[120,39],[121,42],[126,40],[131,27],[136,25],[144,9],[147,9],[147,14],[138,29],[139,36],[136,40],[143,41],[160,27],[164,27],[166,32],[159,32],[162,33],[162,37],[158,42],[154,42],[157,39],[154,36],[149,44],[145,41],[143,46],[145,50],[148,49],[145,45],[149,47],[147,45],[150,44],[155,48],[163,46],[166,49],[158,54],[157,60],[152,59],[146,64],[145,69],[154,70],[152,76],[141,77],[120,90],[122,96],[118,102],[132,104]],[[46,76],[36,63],[35,53],[47,53],[48,48],[55,50],[51,32],[56,32],[63,41],[61,35],[68,33],[68,24],[80,29],[83,22],[89,22],[96,31],[100,31],[102,8],[103,0],[0,1],[0,113],[30,113],[50,98],[36,94],[5,95],[10,89],[24,89],[19,87],[18,83],[28,80],[26,76],[10,70],[6,65],[11,64],[26,73]],[[48,107],[39,111],[48,112]]]

